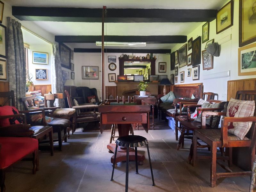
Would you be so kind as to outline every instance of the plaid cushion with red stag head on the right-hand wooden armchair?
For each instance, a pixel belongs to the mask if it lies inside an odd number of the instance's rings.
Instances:
[[[255,101],[236,100],[231,98],[228,103],[228,117],[250,117],[255,110]],[[236,135],[241,140],[250,130],[252,122],[233,122],[228,124],[228,132]]]

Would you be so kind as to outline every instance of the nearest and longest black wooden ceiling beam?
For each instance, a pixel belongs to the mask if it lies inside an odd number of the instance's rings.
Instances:
[[[102,9],[12,6],[19,20],[101,22]],[[105,22],[204,22],[216,18],[217,10],[204,9],[107,9]]]

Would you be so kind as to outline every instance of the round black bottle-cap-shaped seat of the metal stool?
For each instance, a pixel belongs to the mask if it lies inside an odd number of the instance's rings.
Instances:
[[[116,140],[116,145],[121,147],[143,147],[148,144],[148,140],[140,135],[126,135]]]

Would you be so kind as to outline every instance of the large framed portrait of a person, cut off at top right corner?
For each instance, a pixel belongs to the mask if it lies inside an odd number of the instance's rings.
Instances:
[[[255,41],[256,2],[255,0],[239,0],[239,47]]]

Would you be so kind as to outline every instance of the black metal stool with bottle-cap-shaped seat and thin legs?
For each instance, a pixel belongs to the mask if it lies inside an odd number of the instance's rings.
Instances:
[[[113,181],[114,176],[114,170],[115,170],[115,164],[116,164],[116,153],[117,153],[117,147],[125,147],[127,149],[126,152],[126,173],[125,173],[125,192],[128,191],[128,176],[129,176],[129,148],[134,147],[135,148],[135,164],[136,164],[136,174],[138,174],[138,155],[137,155],[137,147],[143,147],[147,145],[148,149],[148,140],[145,137],[139,136],[139,135],[127,135],[119,137],[116,140],[116,150],[115,150],[115,157],[114,157],[114,163],[113,163],[113,170],[112,170],[112,176],[111,181]],[[148,160],[151,170],[151,176],[153,181],[153,186],[155,186],[153,171],[152,171],[152,165],[149,155],[149,149],[148,149]]]

